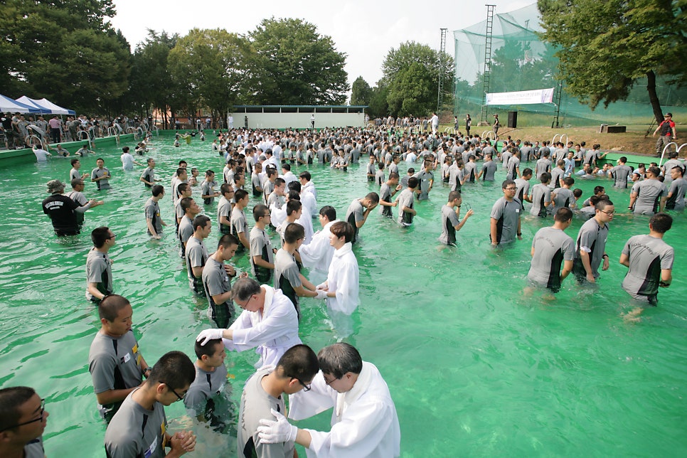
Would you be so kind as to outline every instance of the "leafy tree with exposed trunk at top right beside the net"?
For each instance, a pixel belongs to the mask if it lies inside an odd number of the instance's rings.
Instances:
[[[656,75],[687,80],[684,1],[538,0],[543,38],[557,47],[559,78],[592,110],[626,100],[637,80],[657,121],[663,120]]]

